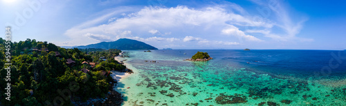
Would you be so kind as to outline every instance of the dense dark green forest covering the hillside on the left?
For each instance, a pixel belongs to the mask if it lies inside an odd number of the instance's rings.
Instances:
[[[113,59],[113,56],[121,52],[120,50],[65,49],[53,43],[35,39],[11,43],[10,83],[12,87],[11,100],[8,101],[4,99],[7,96],[3,90],[8,83],[5,81],[7,75],[3,67],[6,63],[4,42],[0,38],[0,105],[48,105],[49,103],[71,105],[71,100],[104,98],[110,87],[109,82],[113,81],[107,73],[110,70],[126,68],[125,65],[118,64]],[[58,52],[60,56],[57,56],[55,52]],[[106,61],[100,60],[100,56],[104,56]],[[67,59],[75,63],[69,65],[66,63]],[[95,67],[83,65],[83,61],[93,62],[96,65]],[[90,72],[80,71],[83,68]],[[77,89],[71,89],[71,87]],[[66,90],[69,92],[66,93]],[[69,93],[71,96],[62,96]],[[57,97],[64,99],[57,99]]]

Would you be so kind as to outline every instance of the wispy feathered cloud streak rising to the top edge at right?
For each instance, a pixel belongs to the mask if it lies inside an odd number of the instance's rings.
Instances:
[[[273,28],[266,28],[264,30],[246,30],[248,33],[262,33],[264,36],[272,38],[277,41],[313,41],[313,39],[300,38],[297,34],[303,28],[303,24],[308,20],[304,16],[291,16],[287,10],[288,6],[285,6],[282,1],[265,1],[265,0],[251,0],[253,3],[257,3],[262,6],[262,9],[257,9],[262,17],[273,17],[273,27],[280,28],[283,32],[273,32]],[[295,19],[293,19],[295,18]],[[297,20],[300,19],[300,20]]]

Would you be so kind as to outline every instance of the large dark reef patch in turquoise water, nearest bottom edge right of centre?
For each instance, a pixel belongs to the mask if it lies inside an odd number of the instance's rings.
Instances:
[[[234,103],[246,103],[246,96],[227,96],[221,93],[217,98],[215,98],[218,104],[234,104]]]

